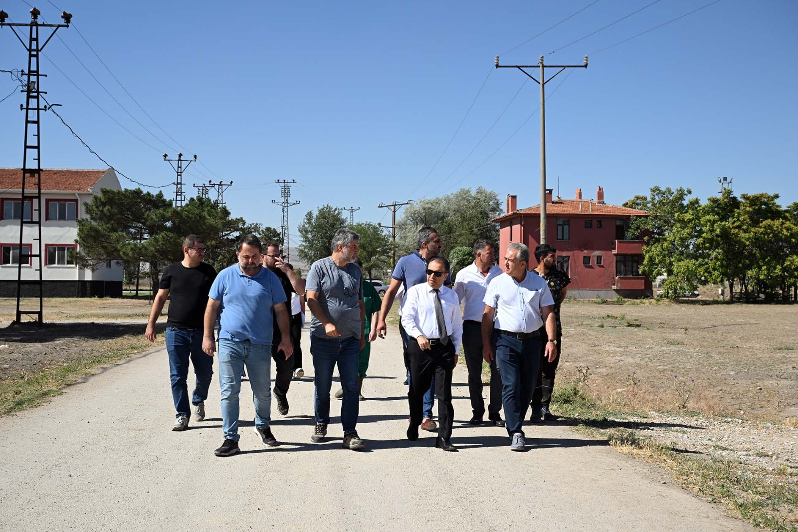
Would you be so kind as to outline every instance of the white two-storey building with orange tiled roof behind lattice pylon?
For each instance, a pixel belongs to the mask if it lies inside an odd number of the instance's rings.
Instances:
[[[109,261],[96,270],[78,268],[69,253],[77,249],[77,219],[86,216],[83,204],[91,201],[101,189],[120,190],[117,173],[110,168],[42,169],[43,213],[32,212],[34,200],[27,200],[22,206],[21,187],[22,169],[0,168],[0,297],[17,296],[20,218],[37,220],[40,214],[44,216],[41,220],[42,294],[45,297],[121,296],[124,272],[120,262]],[[34,248],[38,245],[37,231],[37,224],[26,224],[22,239],[25,252],[37,251]],[[38,260],[35,259],[22,264],[22,278],[38,279],[36,265]]]

